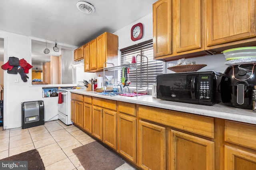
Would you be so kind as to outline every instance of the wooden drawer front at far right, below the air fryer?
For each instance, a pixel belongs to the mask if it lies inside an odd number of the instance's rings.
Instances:
[[[256,149],[256,126],[225,120],[225,141]]]

